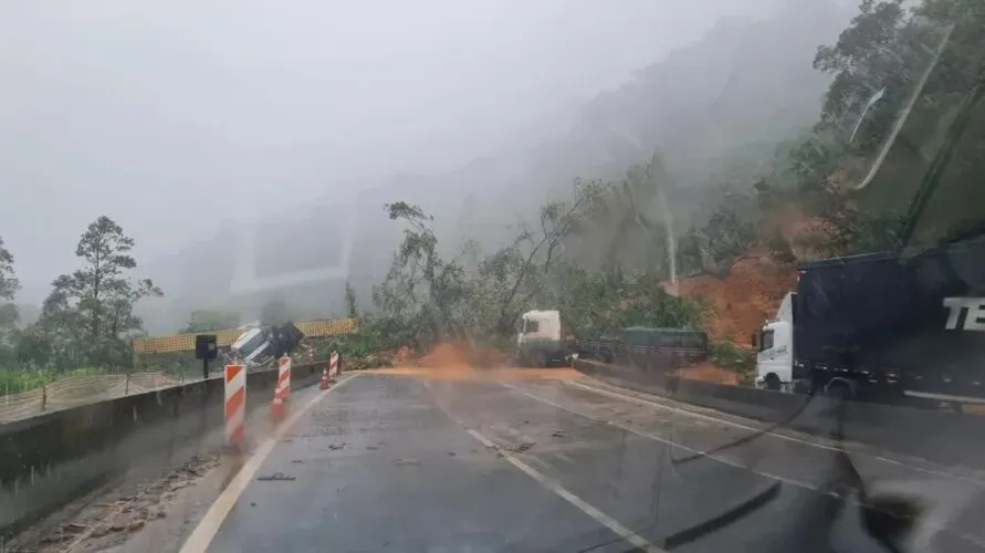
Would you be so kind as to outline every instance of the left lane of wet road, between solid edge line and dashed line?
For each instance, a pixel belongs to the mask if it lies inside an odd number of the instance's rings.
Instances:
[[[618,536],[504,463],[420,380],[361,375],[291,429],[208,551],[577,551]]]

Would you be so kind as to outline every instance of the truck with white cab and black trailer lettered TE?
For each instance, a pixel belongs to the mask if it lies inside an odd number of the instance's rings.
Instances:
[[[764,387],[985,404],[985,238],[801,263],[788,313],[756,342]]]

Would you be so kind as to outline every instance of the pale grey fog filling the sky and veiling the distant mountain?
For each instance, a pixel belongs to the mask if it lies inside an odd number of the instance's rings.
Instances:
[[[44,127],[61,132],[59,140],[40,132],[22,132],[17,144],[0,138],[17,146],[0,154],[12,168],[6,180],[52,204],[45,222],[3,232],[22,301],[40,304],[46,283],[71,270],[78,233],[103,211],[134,234],[138,273],[165,291],[138,305],[153,333],[172,332],[195,309],[254,316],[271,298],[297,316],[338,314],[346,280],[368,302],[400,236],[383,210],[395,200],[432,213],[442,248],[467,238],[494,248],[574,178],[616,178],[659,152],[687,221],[722,175],[755,166],[816,121],[829,80],[810,61],[855,12],[855,2],[835,0],[431,3],[387,4],[388,20],[420,22],[410,29],[347,25],[373,18],[355,8],[213,7],[188,22],[181,48],[163,39],[184,21],[180,7],[135,13],[126,25],[18,8],[65,31],[65,44],[77,46],[70,61],[87,81],[41,63],[50,52],[23,33],[34,58],[8,61],[6,71],[71,84],[76,103],[95,102],[83,113],[69,100],[31,96],[28,85],[4,93],[21,102],[14,127],[67,118]],[[128,49],[125,72],[91,61],[111,46]],[[128,80],[105,95],[120,74]],[[147,100],[154,93],[174,105]],[[112,119],[104,137],[80,134],[99,117]],[[74,173],[45,156],[70,160]],[[80,178],[69,186],[72,175]],[[2,210],[15,219],[10,204]],[[347,279],[263,283],[326,265]]]

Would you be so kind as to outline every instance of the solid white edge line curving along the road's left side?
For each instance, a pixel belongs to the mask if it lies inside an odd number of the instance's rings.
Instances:
[[[332,393],[332,390],[338,389],[357,376],[359,376],[359,373],[353,374],[348,378],[340,379],[335,386],[319,392],[318,395],[304,404],[301,409],[287,417],[282,424],[277,425],[273,435],[256,449],[235,477],[229,482],[229,486],[222,490],[222,493],[212,503],[209,511],[202,520],[199,521],[198,526],[196,526],[195,531],[185,542],[185,545],[181,546],[180,553],[205,553],[212,543],[212,539],[214,539],[216,534],[219,532],[222,522],[226,521],[229,512],[235,505],[240,495],[242,495],[243,490],[245,490],[247,486],[250,484],[250,481],[253,480],[253,474],[256,473],[256,470],[260,469],[260,466],[270,452],[273,451],[273,448],[277,445],[281,438],[284,437],[284,434],[286,434],[287,430],[308,411],[308,409],[314,407],[315,404],[321,401],[325,396]]]

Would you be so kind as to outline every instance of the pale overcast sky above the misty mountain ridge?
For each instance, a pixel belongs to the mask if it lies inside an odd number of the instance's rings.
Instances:
[[[3,2],[0,236],[38,301],[99,215],[147,261],[237,205],[535,142],[750,3]]]

